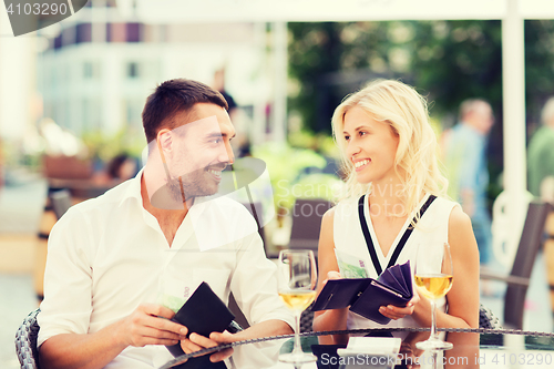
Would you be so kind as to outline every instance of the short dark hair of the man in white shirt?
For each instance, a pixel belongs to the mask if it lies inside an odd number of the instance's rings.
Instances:
[[[179,112],[187,111],[197,103],[213,103],[228,109],[223,95],[208,85],[186,79],[165,81],[146,99],[142,111],[142,123],[146,141],[156,139],[162,127],[175,129],[173,121]]]

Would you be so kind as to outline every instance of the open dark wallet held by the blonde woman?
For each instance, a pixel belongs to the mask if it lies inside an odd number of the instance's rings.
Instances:
[[[413,297],[410,260],[386,269],[377,279],[330,279],[319,294],[311,311],[341,309],[350,306],[350,311],[381,325],[391,319],[379,312],[386,305],[406,306]]]

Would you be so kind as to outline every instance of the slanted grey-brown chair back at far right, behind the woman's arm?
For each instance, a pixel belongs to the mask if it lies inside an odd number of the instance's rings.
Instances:
[[[551,205],[544,202],[529,204],[527,216],[523,225],[520,245],[515,254],[510,276],[530,278],[536,255],[543,242],[544,226]],[[523,328],[523,311],[527,285],[509,284],[504,297],[504,326]]]

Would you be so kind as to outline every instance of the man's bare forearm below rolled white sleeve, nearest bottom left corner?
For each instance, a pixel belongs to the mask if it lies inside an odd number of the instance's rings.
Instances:
[[[51,337],[40,347],[44,369],[101,369],[125,349],[115,335],[115,322],[95,334],[64,334]]]

